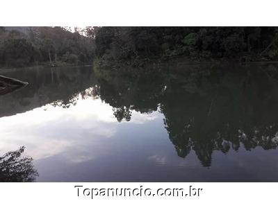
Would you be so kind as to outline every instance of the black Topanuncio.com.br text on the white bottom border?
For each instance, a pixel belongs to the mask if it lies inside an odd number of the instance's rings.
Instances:
[[[103,188],[92,189],[83,186],[74,186],[77,196],[81,198],[101,198],[101,197],[199,197],[203,191],[202,188],[196,188],[189,186],[186,189],[183,188],[168,188],[168,189],[149,189],[143,186],[138,188]]]

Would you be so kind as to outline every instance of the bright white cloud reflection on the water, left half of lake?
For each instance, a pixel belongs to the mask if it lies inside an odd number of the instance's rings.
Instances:
[[[156,114],[133,115],[136,124],[156,118]],[[100,141],[113,137],[118,125],[112,107],[99,99],[79,99],[70,108],[47,105],[0,118],[0,150],[26,146],[34,159],[63,154],[69,161],[83,162],[92,159],[92,153],[85,153],[88,146],[106,149]]]

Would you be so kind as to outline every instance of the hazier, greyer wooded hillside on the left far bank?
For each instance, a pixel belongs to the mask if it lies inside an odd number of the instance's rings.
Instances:
[[[92,62],[94,41],[61,27],[1,27],[0,66]]]

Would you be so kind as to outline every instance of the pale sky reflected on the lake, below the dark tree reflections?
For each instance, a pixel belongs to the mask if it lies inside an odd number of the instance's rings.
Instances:
[[[26,146],[38,181],[221,181],[277,179],[277,150],[243,148],[213,152],[202,167],[192,150],[178,157],[163,114],[132,112],[117,122],[99,99],[81,99],[69,108],[46,105],[0,118],[0,153]]]

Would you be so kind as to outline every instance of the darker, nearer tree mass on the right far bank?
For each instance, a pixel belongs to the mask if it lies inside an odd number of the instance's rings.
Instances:
[[[101,27],[94,30],[96,52],[103,60],[129,60],[186,55],[278,60],[275,27]]]

